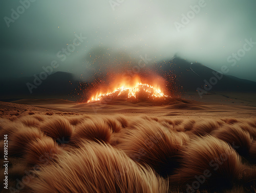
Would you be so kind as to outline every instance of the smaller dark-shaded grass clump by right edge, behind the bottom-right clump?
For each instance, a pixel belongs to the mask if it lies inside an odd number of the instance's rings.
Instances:
[[[223,125],[212,136],[230,144],[241,156],[248,156],[252,138],[237,125]]]

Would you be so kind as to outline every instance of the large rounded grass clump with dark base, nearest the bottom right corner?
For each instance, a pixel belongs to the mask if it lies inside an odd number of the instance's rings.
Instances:
[[[185,148],[182,158],[181,167],[169,176],[169,182],[188,192],[230,188],[244,168],[236,151],[212,136],[195,138]]]

